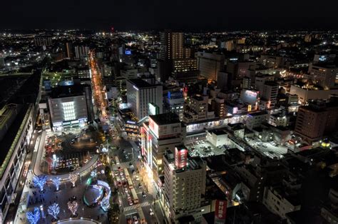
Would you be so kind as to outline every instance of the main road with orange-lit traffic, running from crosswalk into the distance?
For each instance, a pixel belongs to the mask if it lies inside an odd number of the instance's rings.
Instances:
[[[93,98],[96,108],[99,109],[98,116],[101,120],[101,123],[108,124],[111,128],[116,130],[116,126],[118,122],[111,122],[109,120],[110,113],[107,111],[108,101],[106,99],[106,90],[103,84],[102,75],[100,69],[98,68],[98,63],[95,58],[94,51],[91,51],[89,54],[89,64],[91,68],[91,81],[93,86]],[[113,114],[114,121],[116,120],[116,116]],[[111,135],[111,133],[109,132]],[[122,186],[118,187],[118,196],[121,205],[121,220],[120,223],[127,223],[128,218],[133,218],[136,216],[140,218],[138,208],[142,208],[143,214],[145,216],[145,220],[147,223],[163,223],[163,213],[160,210],[159,206],[156,206],[155,209],[155,200],[153,199],[153,195],[148,193],[148,183],[144,183],[141,180],[144,180],[140,175],[144,175],[143,167],[140,165],[141,162],[138,158],[139,156],[139,148],[132,141],[128,141],[123,138],[122,134],[119,133],[120,136],[118,138],[113,138],[113,140],[108,141],[108,145],[112,147],[108,147],[111,158],[118,158],[120,164],[116,164],[112,166],[112,170],[114,173],[114,178],[118,178],[121,180],[120,172],[116,173],[118,167],[128,169],[129,176],[133,182],[133,188],[135,189],[138,196],[138,203],[130,205],[128,202],[128,194],[131,195],[130,190],[126,192],[126,189]],[[133,167],[130,167],[130,164],[133,164]],[[135,170],[135,173],[133,173]],[[140,178],[138,180],[138,178]],[[124,173],[124,177],[126,177],[126,173]],[[125,180],[126,181],[126,180]],[[118,180],[116,181],[118,183]],[[122,183],[122,181],[121,181]],[[139,186],[140,183],[140,187]],[[146,197],[143,197],[143,194]],[[154,211],[154,215],[150,215],[150,209]]]

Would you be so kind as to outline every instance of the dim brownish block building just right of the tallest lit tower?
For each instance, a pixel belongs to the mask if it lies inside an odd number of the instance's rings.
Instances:
[[[217,81],[218,71],[224,69],[225,58],[222,54],[211,54],[206,52],[197,52],[195,54],[197,58],[198,70],[200,75]]]

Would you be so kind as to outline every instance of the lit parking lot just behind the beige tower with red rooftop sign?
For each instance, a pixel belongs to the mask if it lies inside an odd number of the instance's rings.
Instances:
[[[189,155],[200,156],[200,157],[208,157],[208,156],[217,156],[224,154],[225,147],[219,146],[215,147],[206,140],[199,140],[187,145]]]

